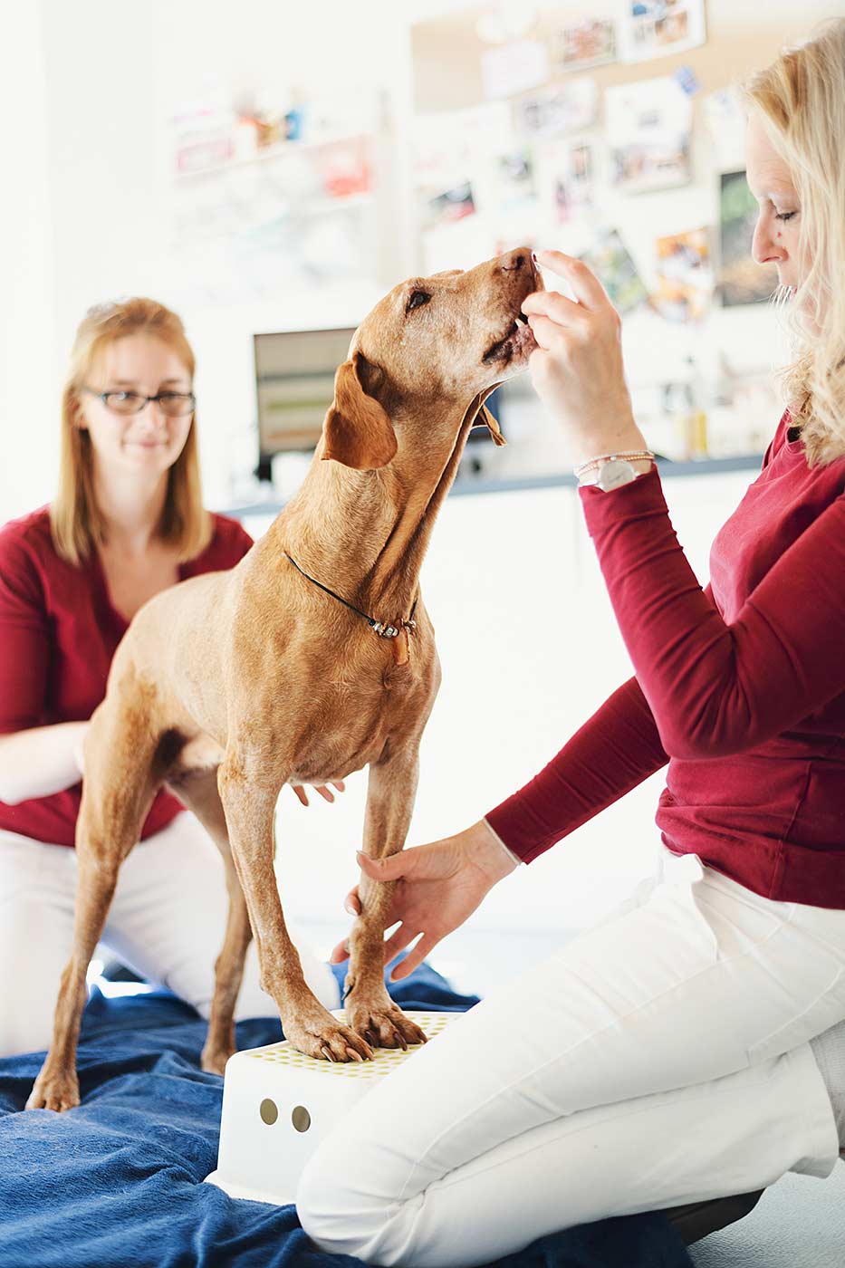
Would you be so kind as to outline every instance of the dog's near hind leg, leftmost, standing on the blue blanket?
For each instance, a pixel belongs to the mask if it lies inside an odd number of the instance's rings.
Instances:
[[[91,718],[76,823],[76,909],[71,956],[58,987],[53,1038],[28,1110],[79,1104],[76,1044],[88,999],[85,976],[112,905],[121,864],[141,834],[156,789],[162,748],[142,708],[104,701]]]

